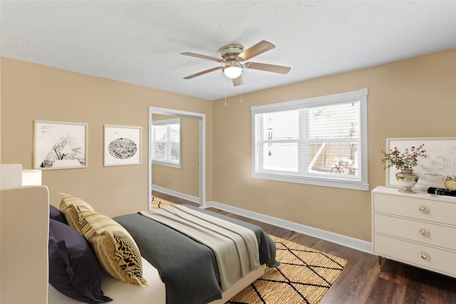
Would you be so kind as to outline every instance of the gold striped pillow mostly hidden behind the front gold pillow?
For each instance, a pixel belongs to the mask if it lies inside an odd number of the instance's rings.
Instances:
[[[65,216],[68,225],[81,233],[81,212],[94,211],[92,206],[78,197],[62,192],[60,193],[60,197],[61,201],[58,209],[60,209],[61,213]]]

